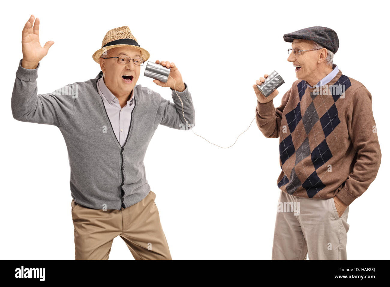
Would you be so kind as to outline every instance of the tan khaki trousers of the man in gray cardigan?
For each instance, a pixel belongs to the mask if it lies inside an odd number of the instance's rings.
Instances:
[[[118,235],[136,260],[172,260],[152,191],[121,210],[91,209],[72,200],[76,260],[108,260]],[[126,258],[124,258],[126,259]]]

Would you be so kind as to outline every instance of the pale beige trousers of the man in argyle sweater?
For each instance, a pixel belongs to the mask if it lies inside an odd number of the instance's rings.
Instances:
[[[309,260],[347,260],[348,211],[340,218],[333,198],[299,198],[281,191],[272,260],[306,260],[307,254]]]

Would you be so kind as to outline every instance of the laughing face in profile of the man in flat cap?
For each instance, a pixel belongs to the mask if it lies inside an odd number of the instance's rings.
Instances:
[[[293,49],[298,48],[299,50],[310,50],[313,49],[313,41],[294,39],[291,47]],[[319,70],[321,70],[319,64],[323,63],[323,55],[321,55],[321,53],[326,53],[321,50],[301,52],[298,56],[294,54],[294,51],[291,51],[287,61],[293,63],[295,75],[298,79],[305,80],[308,83],[316,81],[318,78],[317,74],[319,73]],[[317,82],[315,82],[315,84],[316,83]]]

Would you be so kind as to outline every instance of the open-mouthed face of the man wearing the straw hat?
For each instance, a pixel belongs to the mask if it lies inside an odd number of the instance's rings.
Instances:
[[[141,51],[133,47],[116,47],[108,50],[107,55],[103,55],[103,58],[118,57],[120,55],[134,59],[140,57]],[[99,64],[108,89],[117,98],[129,96],[140,77],[141,67],[135,65],[133,60],[129,63],[119,63],[117,58],[103,58],[99,59]]]

